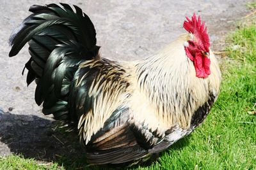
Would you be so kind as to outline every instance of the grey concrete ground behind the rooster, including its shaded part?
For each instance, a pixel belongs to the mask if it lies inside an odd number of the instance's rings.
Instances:
[[[201,15],[211,35],[212,48],[223,48],[223,37],[246,15],[246,0],[63,0],[76,4],[92,19],[103,57],[114,60],[142,59],[179,34],[185,16]],[[27,87],[21,72],[29,58],[28,48],[9,58],[8,38],[27,17],[32,4],[57,1],[1,0],[0,17],[0,156],[22,153],[24,157],[54,160],[62,153],[83,154],[81,146],[54,130],[56,122],[41,113],[34,101],[35,83]],[[78,145],[78,144],[77,144]]]

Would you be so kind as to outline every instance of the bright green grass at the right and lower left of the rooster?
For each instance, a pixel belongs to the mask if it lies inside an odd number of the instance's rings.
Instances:
[[[227,38],[221,93],[204,124],[161,153],[157,162],[137,169],[256,169],[255,42],[251,18]],[[64,155],[42,165],[11,155],[0,159],[0,169],[92,169],[83,160]]]

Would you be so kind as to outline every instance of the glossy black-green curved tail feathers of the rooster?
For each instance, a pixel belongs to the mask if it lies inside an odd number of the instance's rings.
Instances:
[[[45,115],[53,113],[56,119],[69,118],[68,95],[73,75],[81,62],[98,57],[100,48],[92,21],[79,7],[74,8],[76,12],[63,3],[33,5],[29,8],[33,14],[10,36],[10,57],[29,44],[27,83],[38,80],[36,104],[44,102]]]

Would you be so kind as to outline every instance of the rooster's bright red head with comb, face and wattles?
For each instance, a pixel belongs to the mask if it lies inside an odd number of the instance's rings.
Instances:
[[[196,76],[198,78],[207,78],[210,71],[210,52],[209,35],[204,22],[201,24],[200,17],[196,18],[194,14],[191,20],[186,17],[183,27],[190,33],[190,39],[184,43],[186,55],[194,62]]]

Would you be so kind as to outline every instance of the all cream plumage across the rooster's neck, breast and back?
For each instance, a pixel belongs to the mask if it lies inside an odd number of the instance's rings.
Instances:
[[[97,85],[93,81],[90,92],[105,88],[106,95],[99,96],[93,104],[93,112],[84,114],[79,120],[80,135],[83,134],[86,143],[120,106],[130,108],[127,121],[131,124],[140,126],[143,123],[152,131],[157,129],[163,136],[165,131],[173,127],[179,131],[189,131],[193,113],[207,102],[210,94],[217,96],[221,81],[218,62],[212,52],[209,77],[195,76],[193,62],[184,51],[184,43],[189,38],[189,34],[184,34],[147,59],[119,63],[118,66],[125,70],[122,78],[129,83],[127,89],[121,81],[115,82],[118,85],[99,85],[100,78],[95,79]],[[111,89],[118,91],[111,93]],[[81,123],[84,123],[83,127]],[[181,134],[180,138],[186,132]]]

